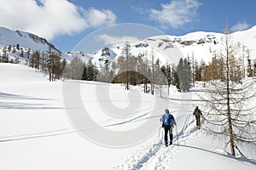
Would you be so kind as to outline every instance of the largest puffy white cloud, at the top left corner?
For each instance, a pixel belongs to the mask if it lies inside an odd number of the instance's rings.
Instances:
[[[1,0],[0,25],[47,39],[90,27],[108,26],[116,15],[107,9],[77,7],[67,0]]]

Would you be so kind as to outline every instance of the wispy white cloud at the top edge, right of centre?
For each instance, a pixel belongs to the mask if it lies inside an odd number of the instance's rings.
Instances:
[[[179,28],[195,18],[197,8],[201,5],[197,0],[172,0],[161,4],[161,9],[150,9],[150,19],[160,22],[162,27]]]

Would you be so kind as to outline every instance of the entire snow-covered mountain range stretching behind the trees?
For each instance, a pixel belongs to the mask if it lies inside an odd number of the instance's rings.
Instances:
[[[236,47],[236,57],[247,59],[256,59],[256,26],[246,31],[236,31],[231,34],[231,42]],[[24,31],[11,31],[0,27],[0,53],[3,47],[20,45],[22,48],[46,51],[49,45],[43,37],[38,37],[34,34]],[[160,59],[160,64],[177,63],[181,57],[194,58],[198,62],[201,60],[206,63],[212,59],[212,56],[222,54],[224,50],[224,34],[207,31],[196,31],[184,36],[160,35],[148,37],[141,42],[130,43],[130,53],[134,56],[142,55],[151,60],[154,54],[154,59]],[[124,47],[107,47],[98,51],[85,54],[82,51],[62,52],[62,59],[67,59],[67,62],[77,56],[87,63],[90,59],[93,64],[101,68],[106,61],[118,59],[122,55]],[[15,55],[15,54],[10,54]]]

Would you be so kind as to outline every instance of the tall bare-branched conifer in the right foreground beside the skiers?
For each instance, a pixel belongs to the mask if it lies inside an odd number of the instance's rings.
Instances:
[[[224,82],[211,81],[206,88],[207,95],[201,96],[205,101],[206,116],[205,129],[213,135],[222,135],[230,144],[230,152],[241,153],[241,144],[251,144],[256,147],[256,139],[252,134],[256,128],[253,117],[253,107],[244,108],[245,103],[253,102],[256,93],[252,91],[253,82],[236,82],[232,73],[233,55],[236,48],[230,39],[227,28],[224,31]],[[234,73],[235,74],[235,73]],[[207,96],[207,97],[206,97]],[[242,154],[242,153],[241,153]]]

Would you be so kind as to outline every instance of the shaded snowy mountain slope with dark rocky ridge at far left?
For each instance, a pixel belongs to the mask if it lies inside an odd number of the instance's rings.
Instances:
[[[3,54],[6,48],[9,59],[19,57],[19,62],[25,64],[28,59],[28,53],[33,51],[45,52],[51,47],[53,50],[60,52],[55,45],[49,43],[44,37],[38,37],[35,34],[26,31],[15,31],[8,28],[0,27],[0,54]],[[92,57],[90,54],[84,54],[81,51],[61,52],[61,58],[72,60],[74,56],[78,56],[84,62],[88,62]]]

